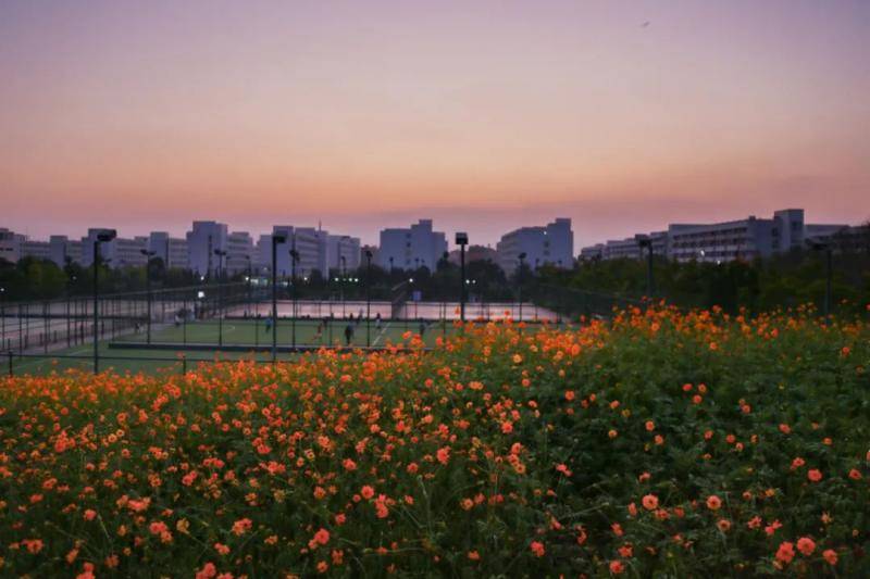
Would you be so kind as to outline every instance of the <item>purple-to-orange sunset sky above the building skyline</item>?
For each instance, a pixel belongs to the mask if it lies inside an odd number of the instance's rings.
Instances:
[[[0,227],[870,218],[870,2],[0,1]]]

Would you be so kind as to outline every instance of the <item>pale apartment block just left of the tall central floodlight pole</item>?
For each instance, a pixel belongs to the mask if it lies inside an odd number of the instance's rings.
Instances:
[[[420,219],[407,229],[383,229],[376,263],[387,270],[427,267],[434,272],[446,251],[444,232],[432,230],[432,219]]]

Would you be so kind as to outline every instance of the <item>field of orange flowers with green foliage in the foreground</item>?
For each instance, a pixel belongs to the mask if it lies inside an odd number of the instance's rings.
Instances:
[[[2,379],[0,575],[866,577],[869,339],[661,307]]]

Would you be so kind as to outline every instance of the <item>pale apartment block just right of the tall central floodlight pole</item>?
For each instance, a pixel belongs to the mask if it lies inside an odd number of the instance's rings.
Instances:
[[[520,265],[520,254],[532,269],[550,264],[574,266],[574,232],[571,219],[558,218],[543,227],[521,227],[501,236],[496,244],[498,265],[508,275]]]

